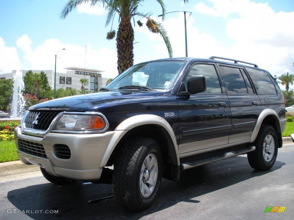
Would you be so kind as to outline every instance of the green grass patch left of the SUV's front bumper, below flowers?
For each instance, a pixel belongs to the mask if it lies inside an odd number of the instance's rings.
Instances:
[[[14,141],[0,141],[0,163],[19,160]]]

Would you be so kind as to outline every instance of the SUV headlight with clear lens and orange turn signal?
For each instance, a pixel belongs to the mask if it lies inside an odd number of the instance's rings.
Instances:
[[[64,131],[103,131],[107,126],[106,119],[98,114],[71,114],[64,113],[53,130]]]

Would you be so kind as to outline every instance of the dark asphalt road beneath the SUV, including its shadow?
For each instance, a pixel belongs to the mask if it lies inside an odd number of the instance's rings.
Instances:
[[[1,163],[0,219],[292,220],[293,158],[293,143],[284,141],[269,171],[253,170],[246,155],[185,170],[176,182],[163,179],[152,207],[139,213],[124,210],[113,198],[87,203],[112,195],[111,185],[76,181],[58,186],[48,182],[34,165]],[[265,213],[269,206],[286,209]]]

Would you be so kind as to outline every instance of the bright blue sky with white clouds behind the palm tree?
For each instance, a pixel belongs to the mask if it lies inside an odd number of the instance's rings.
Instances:
[[[1,0],[0,70],[54,69],[58,54],[59,72],[64,67],[81,66],[102,69],[103,77],[115,77],[116,42],[106,40],[105,13],[83,6],[66,19],[59,18],[66,0]],[[221,4],[220,4],[221,2]],[[273,75],[294,73],[294,1],[249,0],[180,0],[165,1],[166,12],[191,11],[187,23],[188,56],[206,58],[212,55],[255,62]],[[144,1],[139,10],[162,11],[154,0]],[[139,18],[135,18],[137,21]],[[163,22],[173,46],[174,56],[185,55],[183,13],[170,13]],[[113,28],[117,30],[118,17]],[[292,30],[291,30],[292,29]],[[167,50],[160,36],[143,26],[135,30],[135,63],[165,58]]]

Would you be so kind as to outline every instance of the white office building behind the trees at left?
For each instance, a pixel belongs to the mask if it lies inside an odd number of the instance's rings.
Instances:
[[[84,88],[90,92],[99,92],[99,89],[106,86],[108,78],[104,78],[101,72],[104,70],[86,69],[81,67],[66,67],[64,68],[66,73],[56,72],[56,90],[63,89],[81,89],[82,84],[80,79],[86,79]],[[21,70],[24,76],[29,70]],[[32,70],[32,72],[40,73],[43,71],[47,77],[49,85],[54,89],[54,71],[52,70]],[[13,75],[16,70],[12,70],[11,73],[0,73],[1,79],[13,79]]]

